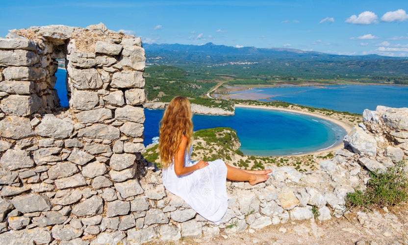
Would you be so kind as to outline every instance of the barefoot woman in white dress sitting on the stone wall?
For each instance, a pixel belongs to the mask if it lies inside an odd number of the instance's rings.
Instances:
[[[271,170],[241,170],[223,160],[192,162],[191,118],[190,101],[185,97],[173,98],[164,111],[159,136],[163,184],[198,214],[219,224],[228,207],[226,179],[255,185],[266,181]]]

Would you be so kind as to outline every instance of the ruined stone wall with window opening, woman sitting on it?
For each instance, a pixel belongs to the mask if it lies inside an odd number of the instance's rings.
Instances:
[[[368,171],[408,155],[408,109],[364,111],[345,148],[318,171],[272,168],[227,182],[220,225],[164,189],[143,159],[145,64],[139,38],[102,24],[31,27],[0,39],[0,244],[141,244],[212,238],[288,221],[335,219]],[[66,58],[69,108],[58,107]],[[314,212],[312,211],[314,210]]]

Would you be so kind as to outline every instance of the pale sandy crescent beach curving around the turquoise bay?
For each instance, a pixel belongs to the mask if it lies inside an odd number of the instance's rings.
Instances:
[[[338,126],[342,127],[346,131],[346,134],[350,133],[352,131],[353,127],[354,127],[354,125],[351,125],[349,123],[344,123],[342,121],[336,120],[336,119],[328,117],[328,116],[323,116],[323,115],[320,115],[320,114],[315,114],[315,113],[301,111],[301,110],[286,109],[286,108],[273,107],[273,106],[267,106],[267,105],[246,105],[246,104],[235,104],[235,107],[267,109],[267,110],[286,111],[286,112],[291,112],[291,113],[304,114],[304,115],[307,115],[307,116],[316,117],[316,118],[324,119],[324,120],[327,120],[329,122],[335,123]],[[329,147],[327,149],[311,151],[311,152],[308,152],[308,153],[293,154],[293,155],[282,155],[282,156],[305,156],[305,155],[310,155],[310,154],[322,154],[322,153],[326,153],[326,152],[329,153],[329,152],[331,152],[333,150],[343,148],[343,145],[341,144],[341,142],[339,142],[338,144],[334,144],[332,147]]]

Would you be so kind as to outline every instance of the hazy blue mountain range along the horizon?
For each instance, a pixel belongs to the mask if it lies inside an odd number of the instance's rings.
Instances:
[[[144,44],[148,66],[214,66],[250,63],[257,73],[275,71],[303,77],[329,78],[337,75],[408,76],[407,57],[370,55],[336,55],[316,51],[284,48],[235,48],[205,45]]]

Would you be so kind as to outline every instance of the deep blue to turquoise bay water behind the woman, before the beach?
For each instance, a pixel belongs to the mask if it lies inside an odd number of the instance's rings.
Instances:
[[[163,110],[145,110],[145,145],[158,137]],[[246,155],[277,156],[307,153],[340,143],[343,128],[307,115],[253,108],[235,108],[234,116],[193,116],[194,130],[231,127]]]

